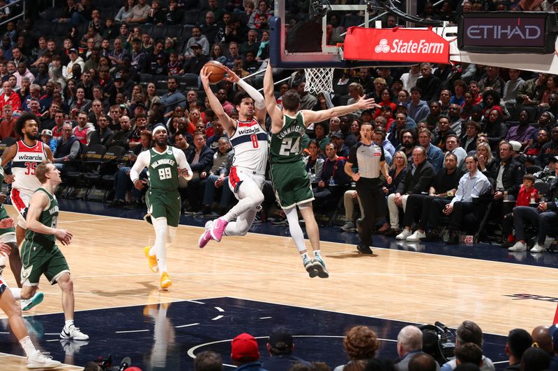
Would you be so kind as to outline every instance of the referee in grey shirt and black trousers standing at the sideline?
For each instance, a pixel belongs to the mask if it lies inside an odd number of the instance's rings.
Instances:
[[[359,173],[353,172],[353,165],[359,168]],[[384,160],[384,148],[372,143],[372,125],[364,123],[361,125],[361,141],[351,147],[349,159],[345,163],[345,173],[356,182],[356,194],[361,199],[364,212],[360,228],[357,221],[361,242],[356,247],[363,254],[372,253],[372,230],[376,222],[386,214],[386,196],[382,191],[380,172],[384,174],[388,184],[391,184],[391,176]]]

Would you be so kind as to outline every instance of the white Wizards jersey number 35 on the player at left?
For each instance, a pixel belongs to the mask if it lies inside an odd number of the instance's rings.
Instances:
[[[12,187],[32,193],[40,187],[35,169],[38,164],[47,159],[45,145],[41,141],[37,141],[33,147],[29,147],[23,141],[17,141],[15,145],[17,145],[17,152],[12,159],[12,173],[15,175]]]

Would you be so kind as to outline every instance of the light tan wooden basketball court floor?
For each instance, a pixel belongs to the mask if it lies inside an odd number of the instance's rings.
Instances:
[[[8,212],[14,214],[9,206]],[[159,292],[158,274],[151,274],[143,253],[154,239],[148,223],[61,212],[59,227],[74,236],[61,249],[75,282],[76,310],[238,297],[450,327],[472,319],[485,333],[506,336],[517,327],[530,332],[550,324],[556,308],[554,301],[511,296],[555,296],[557,269],[382,248],[363,256],[352,245],[322,242],[330,278],[309,278],[290,238],[250,233],[200,249],[202,228],[190,226],[179,227],[167,251],[173,285]],[[3,276],[14,284],[9,268]],[[60,313],[59,288],[41,282],[45,300],[26,315]],[[75,319],[87,333],[79,312]],[[25,369],[24,358],[0,356],[1,368]]]

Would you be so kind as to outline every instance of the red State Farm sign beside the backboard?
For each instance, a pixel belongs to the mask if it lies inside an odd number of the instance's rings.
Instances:
[[[367,29],[347,31],[343,56],[359,61],[449,63],[449,43],[428,29]]]

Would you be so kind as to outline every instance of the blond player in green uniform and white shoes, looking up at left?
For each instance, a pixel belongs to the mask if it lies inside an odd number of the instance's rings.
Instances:
[[[29,299],[37,290],[39,278],[43,274],[51,285],[57,283],[62,290],[64,325],[60,338],[88,340],[80,329],[74,326],[74,289],[70,278],[70,268],[56,239],[68,245],[72,234],[68,230],[56,228],[58,222],[58,201],[54,197],[56,187],[62,182],[60,171],[50,162],[43,162],[36,168],[35,175],[40,187],[33,193],[27,207],[25,223],[27,231],[22,244],[22,292],[23,299]]]

